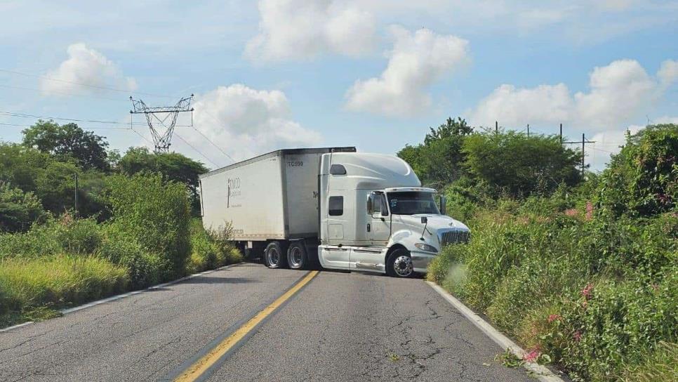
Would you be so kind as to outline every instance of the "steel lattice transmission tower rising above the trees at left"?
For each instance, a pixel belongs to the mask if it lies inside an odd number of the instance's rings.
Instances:
[[[192,94],[190,97],[180,99],[174,106],[148,107],[143,100],[133,100],[132,97],[129,100],[132,103],[132,110],[129,111],[130,129],[132,128],[132,114],[144,114],[148,128],[151,130],[156,153],[169,152],[169,147],[172,145],[174,125],[177,123],[180,112],[191,112],[191,125],[193,124]],[[158,117],[159,115],[160,117]],[[161,133],[154,124],[164,127],[165,131]]]

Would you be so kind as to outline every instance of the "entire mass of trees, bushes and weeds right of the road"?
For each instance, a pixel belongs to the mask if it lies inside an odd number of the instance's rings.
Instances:
[[[584,176],[559,137],[471,130],[450,119],[399,153],[472,230],[428,279],[575,381],[677,380],[678,126]]]

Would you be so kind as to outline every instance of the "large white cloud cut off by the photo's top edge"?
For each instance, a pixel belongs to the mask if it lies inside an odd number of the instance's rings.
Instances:
[[[360,55],[374,44],[373,15],[346,1],[260,0],[259,13],[259,34],[245,48],[250,60]]]

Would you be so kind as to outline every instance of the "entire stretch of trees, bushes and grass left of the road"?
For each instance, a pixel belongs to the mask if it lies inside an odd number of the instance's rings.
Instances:
[[[241,261],[195,217],[203,164],[38,121],[0,143],[0,327]],[[75,204],[75,175],[79,179]]]

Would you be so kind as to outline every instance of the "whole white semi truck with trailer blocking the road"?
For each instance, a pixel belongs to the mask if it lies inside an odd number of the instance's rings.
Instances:
[[[199,176],[203,225],[269,268],[411,277],[470,239],[407,162],[355,147],[277,150]]]

